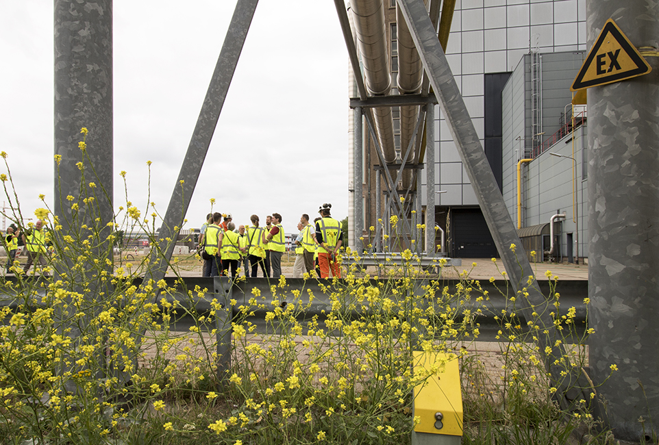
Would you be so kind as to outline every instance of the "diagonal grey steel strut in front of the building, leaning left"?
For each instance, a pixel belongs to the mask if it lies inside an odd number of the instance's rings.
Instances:
[[[547,333],[538,335],[538,345],[540,351],[545,351],[545,347],[547,348],[548,353],[544,357],[545,365],[551,374],[553,384],[558,389],[556,396],[560,397],[562,407],[568,407],[571,405],[571,401],[582,396],[573,387],[575,382],[580,380],[578,384],[582,388],[587,388],[588,383],[584,381],[584,377],[578,374],[580,369],[571,370],[572,374],[563,377],[560,372],[564,368],[560,368],[558,364],[555,364],[558,363],[556,360],[560,360],[564,355],[564,348],[555,346],[553,343],[555,328],[554,320],[550,315],[551,309],[545,296],[538,289],[534,279],[534,271],[526,255],[524,253],[517,255],[514,248],[512,248],[514,244],[516,249],[521,250],[521,242],[423,1],[398,0],[398,5],[410,28],[412,39],[416,44],[416,50],[419,51],[425,71],[430,77],[430,84],[442,106],[451,135],[458,147],[462,164],[467,170],[467,175],[469,175],[469,180],[490,233],[492,233],[503,260],[503,265],[506,267],[506,272],[508,272],[510,284],[515,290],[525,288],[528,293],[526,298],[530,305],[523,311],[527,319],[532,318],[532,308],[540,314],[538,325],[541,332],[546,331]],[[430,166],[430,162],[427,162],[427,164]],[[426,227],[426,230],[432,231],[434,235],[434,227]],[[434,238],[432,244],[434,244]],[[570,388],[571,390],[568,392],[567,390]],[[587,395],[584,397],[588,400]]]

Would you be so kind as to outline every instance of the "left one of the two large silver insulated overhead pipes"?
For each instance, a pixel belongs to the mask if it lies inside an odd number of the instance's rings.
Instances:
[[[384,1],[353,0],[353,21],[357,31],[359,51],[364,65],[366,90],[369,95],[386,96],[391,90],[390,58],[387,50]],[[385,162],[396,160],[393,116],[390,107],[375,107],[375,131],[380,140]]]

